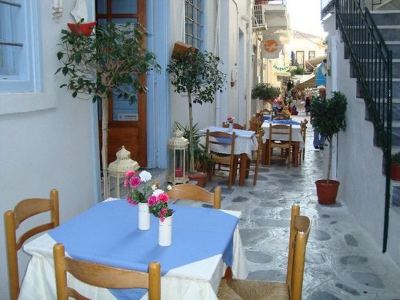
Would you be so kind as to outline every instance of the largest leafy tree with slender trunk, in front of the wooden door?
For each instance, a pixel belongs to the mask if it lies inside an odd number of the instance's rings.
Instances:
[[[108,197],[108,103],[112,95],[137,101],[136,94],[146,92],[143,74],[160,70],[152,52],[142,48],[146,29],[140,23],[99,26],[86,36],[61,30],[61,51],[57,58],[63,66],[57,69],[68,77],[66,87],[72,97],[101,99],[101,161],[104,197]]]

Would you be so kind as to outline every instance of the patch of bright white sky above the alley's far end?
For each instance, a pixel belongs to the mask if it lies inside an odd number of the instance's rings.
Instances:
[[[320,0],[287,0],[290,27],[305,33],[325,37],[321,26]]]

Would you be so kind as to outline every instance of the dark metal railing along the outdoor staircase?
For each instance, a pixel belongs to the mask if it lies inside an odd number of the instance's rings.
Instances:
[[[377,143],[383,150],[386,167],[383,252],[386,252],[392,149],[392,52],[388,50],[368,8],[361,6],[361,0],[335,0],[334,6],[337,27],[350,54],[369,119],[374,124]]]

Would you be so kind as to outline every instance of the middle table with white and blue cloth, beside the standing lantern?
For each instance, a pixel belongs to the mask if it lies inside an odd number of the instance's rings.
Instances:
[[[206,128],[202,128],[200,132],[234,132],[235,133],[235,140],[234,140],[234,154],[239,156],[239,186],[244,186],[246,182],[246,175],[247,175],[247,166],[252,159],[252,151],[257,151],[258,149],[258,141],[257,137],[255,136],[254,131],[252,130],[241,130],[235,128],[223,128],[218,126],[208,126]],[[201,141],[202,143],[206,143],[205,140]],[[223,154],[230,154],[231,147],[230,146],[223,146],[217,144],[210,144],[210,151],[223,153]]]

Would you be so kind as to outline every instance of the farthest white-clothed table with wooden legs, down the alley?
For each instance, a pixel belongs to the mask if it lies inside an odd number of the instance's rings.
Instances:
[[[293,166],[299,166],[299,150],[304,148],[303,135],[301,134],[301,126],[298,121],[292,119],[288,120],[266,120],[263,121],[261,128],[264,130],[263,136],[263,156],[261,158],[261,163],[263,165],[267,164],[268,160],[268,140],[270,139],[270,124],[285,124],[292,125],[292,143],[293,143]],[[276,139],[281,139],[282,141],[288,141],[288,135],[282,134],[281,137],[277,136]]]

